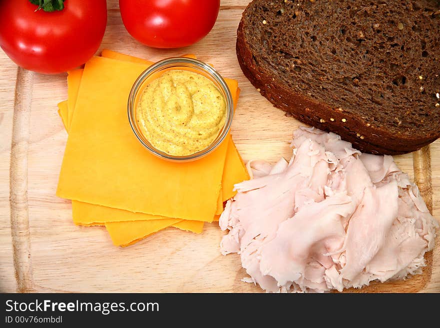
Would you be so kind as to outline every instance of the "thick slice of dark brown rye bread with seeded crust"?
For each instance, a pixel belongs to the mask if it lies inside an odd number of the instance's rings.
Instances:
[[[440,137],[437,0],[253,0],[236,50],[276,107],[363,152],[402,154]]]

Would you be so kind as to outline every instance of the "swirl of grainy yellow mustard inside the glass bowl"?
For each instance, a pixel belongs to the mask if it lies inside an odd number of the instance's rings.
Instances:
[[[169,70],[145,87],[136,116],[141,132],[155,148],[186,156],[215,140],[226,120],[226,102],[203,75]]]

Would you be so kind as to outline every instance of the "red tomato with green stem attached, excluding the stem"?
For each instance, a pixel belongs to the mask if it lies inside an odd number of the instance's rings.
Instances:
[[[55,74],[86,62],[107,23],[106,0],[65,0],[64,9],[35,11],[28,0],[0,0],[0,46],[17,65]]]

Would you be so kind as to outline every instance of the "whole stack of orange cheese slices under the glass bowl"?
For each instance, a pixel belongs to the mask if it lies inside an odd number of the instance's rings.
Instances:
[[[248,179],[230,136],[188,163],[161,160],[140,145],[128,124],[127,99],[151,64],[103,50],[84,69],[68,72],[68,99],[58,104],[69,136],[57,196],[72,200],[75,224],[105,226],[118,246],[167,227],[202,232],[204,222],[218,220],[233,185]],[[236,105],[238,84],[225,80]]]

